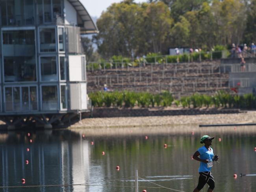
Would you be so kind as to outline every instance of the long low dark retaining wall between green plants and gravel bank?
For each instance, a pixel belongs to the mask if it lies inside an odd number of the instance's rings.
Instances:
[[[95,108],[91,113],[83,113],[86,117],[137,117],[137,116],[173,116],[195,114],[230,114],[241,113],[240,109],[180,109],[180,110],[150,110],[150,109],[119,109]]]

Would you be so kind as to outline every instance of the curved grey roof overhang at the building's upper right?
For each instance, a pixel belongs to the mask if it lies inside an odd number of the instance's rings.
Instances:
[[[98,28],[91,19],[91,16],[80,2],[80,0],[68,0],[70,4],[76,9],[78,15],[78,26],[81,27],[83,34],[98,33]]]

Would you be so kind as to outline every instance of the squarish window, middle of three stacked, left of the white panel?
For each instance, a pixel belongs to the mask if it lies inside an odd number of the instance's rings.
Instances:
[[[57,81],[56,57],[41,57],[40,62],[42,81]]]

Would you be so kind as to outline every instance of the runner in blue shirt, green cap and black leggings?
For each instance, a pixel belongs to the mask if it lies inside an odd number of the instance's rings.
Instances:
[[[204,135],[203,137],[201,137],[200,143],[204,143],[204,146],[199,148],[193,155],[193,159],[200,161],[200,166],[198,168],[198,185],[193,190],[193,192],[199,192],[206,183],[209,185],[207,192],[213,192],[213,189],[215,187],[215,181],[211,174],[211,167],[213,166],[213,161],[218,161],[219,157],[215,155],[213,158],[213,149],[210,148],[213,139],[214,137],[210,137],[208,135]],[[199,155],[200,158],[198,157]]]

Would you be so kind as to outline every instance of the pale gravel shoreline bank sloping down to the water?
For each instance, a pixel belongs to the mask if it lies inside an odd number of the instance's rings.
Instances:
[[[69,129],[256,123],[256,111],[233,114],[84,118]]]

